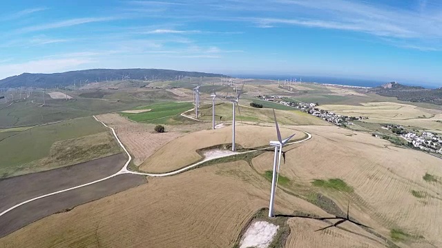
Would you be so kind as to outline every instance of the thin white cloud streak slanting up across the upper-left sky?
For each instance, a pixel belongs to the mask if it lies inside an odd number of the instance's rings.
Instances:
[[[86,18],[77,18],[77,19],[68,19],[64,21],[57,21],[54,23],[45,23],[39,25],[32,25],[26,28],[21,28],[19,32],[35,32],[41,30],[49,30],[53,28],[66,28],[74,25],[81,25],[85,23],[95,23],[102,21],[113,21],[117,19],[116,17],[86,17]]]

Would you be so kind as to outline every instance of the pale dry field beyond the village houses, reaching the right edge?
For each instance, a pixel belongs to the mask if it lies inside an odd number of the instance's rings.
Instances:
[[[401,103],[361,103],[363,106],[320,105],[323,110],[349,116],[368,116],[369,123],[396,123],[412,127],[442,130],[442,111],[430,110]]]

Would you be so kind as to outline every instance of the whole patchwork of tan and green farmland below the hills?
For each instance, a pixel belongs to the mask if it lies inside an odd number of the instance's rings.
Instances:
[[[9,113],[0,123],[15,126],[0,130],[0,165],[7,165],[0,166],[0,174],[6,177],[0,186],[8,192],[0,196],[8,202],[0,210],[121,169],[126,156],[112,132],[91,114],[101,113],[97,119],[115,129],[133,158],[129,169],[136,173],[171,172],[204,156],[227,154],[232,104],[216,100],[216,124],[221,125],[211,130],[209,94],[216,88],[220,96],[227,92],[232,96],[233,88],[241,86],[202,81],[200,121],[192,119],[192,85],[184,81],[148,82],[149,87],[144,87],[144,81],[120,81],[114,82],[115,89],[103,82],[91,83],[84,87],[87,90],[68,92],[73,96],[68,101],[46,95],[46,107],[32,100],[0,105],[0,112]],[[387,98],[359,89],[308,83],[292,88],[290,92],[251,80],[244,86],[236,112],[238,152],[267,147],[276,140],[271,108],[276,109],[282,136],[296,133],[292,140],[296,141],[306,137],[304,132],[312,134],[308,141],[283,149],[276,214],[282,214],[278,225],[284,228],[277,243],[285,247],[442,246],[440,159],[366,133],[381,130],[387,134],[379,123],[397,122],[441,130],[434,121],[441,111],[424,103],[379,101]],[[293,101],[316,99],[319,107],[369,116],[364,121],[373,122],[355,121],[354,130],[336,127],[293,107],[254,97],[262,93]],[[249,107],[252,101],[262,103],[263,108]],[[51,114],[67,106],[72,112]],[[181,116],[183,112],[187,117]],[[89,117],[73,118],[85,115]],[[65,118],[69,120],[17,127]],[[166,132],[154,132],[157,124],[164,125]],[[251,221],[261,218],[259,213],[267,214],[263,208],[269,204],[273,150],[229,154],[233,156],[173,176],[146,177],[124,171],[94,185],[17,207],[0,216],[7,227],[0,231],[4,236],[0,247],[234,247]],[[16,176],[21,174],[25,175]],[[19,194],[13,189],[19,189]],[[321,218],[345,216],[347,205],[352,220],[372,228],[345,222],[315,231],[338,223],[339,219]]]

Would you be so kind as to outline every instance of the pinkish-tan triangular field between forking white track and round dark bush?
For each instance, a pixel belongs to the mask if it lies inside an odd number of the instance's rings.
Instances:
[[[151,156],[162,145],[182,136],[181,132],[157,134],[153,131],[155,125],[134,123],[119,114],[102,114],[97,118],[115,129],[119,139],[133,155],[135,165],[143,163],[148,156]]]

